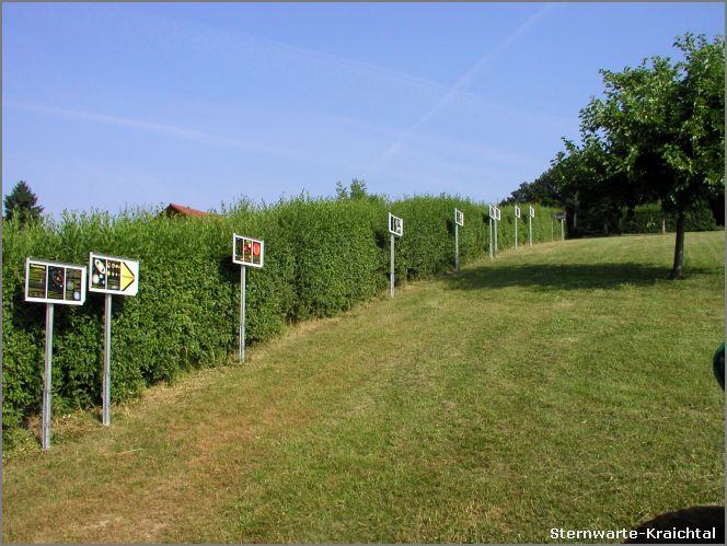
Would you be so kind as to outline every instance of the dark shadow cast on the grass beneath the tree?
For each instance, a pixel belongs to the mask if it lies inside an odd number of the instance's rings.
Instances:
[[[650,286],[669,279],[670,268],[637,263],[622,264],[512,264],[465,269],[448,278],[453,290],[530,287],[538,290],[613,289]],[[689,274],[712,272],[690,268]],[[679,282],[679,281],[674,281]]]

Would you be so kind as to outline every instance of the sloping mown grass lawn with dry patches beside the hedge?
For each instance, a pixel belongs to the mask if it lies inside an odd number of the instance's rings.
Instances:
[[[59,417],[5,542],[547,542],[724,503],[723,232],[547,243]]]

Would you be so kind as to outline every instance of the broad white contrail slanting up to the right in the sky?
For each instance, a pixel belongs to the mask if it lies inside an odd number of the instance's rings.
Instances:
[[[497,54],[499,54],[503,49],[505,49],[507,46],[509,46],[512,42],[515,42],[521,34],[527,32],[532,25],[534,25],[547,11],[550,11],[553,8],[552,4],[546,4],[540,10],[538,10],[535,13],[530,15],[524,23],[522,23],[512,34],[510,34],[507,38],[505,38],[500,44],[498,44],[494,49],[491,51],[487,51],[485,56],[477,61],[476,65],[474,65],[470,70],[468,70],[464,74],[462,74],[442,95],[442,97],[439,100],[437,104],[435,104],[429,112],[427,112],[424,116],[422,116],[414,125],[412,125],[408,129],[406,129],[400,137],[394,141],[384,152],[373,162],[373,164],[369,167],[369,172],[376,172],[381,166],[383,166],[384,163],[386,163],[393,155],[395,155],[401,149],[402,144],[404,143],[405,140],[407,140],[414,132],[416,132],[419,127],[422,127],[424,124],[426,124],[431,117],[434,117],[437,113],[439,113],[445,106],[447,106],[451,100],[458,95],[461,90],[468,85],[474,77],[482,70],[482,68],[492,60],[493,57],[495,57]]]

